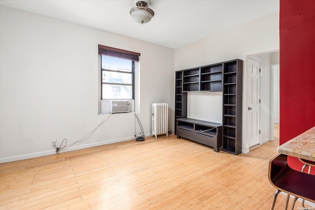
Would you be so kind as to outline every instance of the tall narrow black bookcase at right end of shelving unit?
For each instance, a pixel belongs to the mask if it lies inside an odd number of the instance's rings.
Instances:
[[[222,150],[242,152],[242,78],[243,61],[223,63]]]

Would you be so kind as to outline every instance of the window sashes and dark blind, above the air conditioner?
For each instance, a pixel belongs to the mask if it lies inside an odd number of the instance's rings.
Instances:
[[[134,99],[134,62],[139,53],[98,45],[102,99]]]

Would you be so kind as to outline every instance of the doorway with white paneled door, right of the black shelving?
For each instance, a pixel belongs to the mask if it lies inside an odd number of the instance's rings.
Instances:
[[[253,60],[259,61],[260,72],[259,81],[256,87],[252,87],[253,77],[250,72],[250,63]],[[243,132],[246,137],[243,143],[243,153],[249,152],[268,141],[274,141],[275,125],[279,130],[279,80],[280,80],[280,53],[279,50],[247,56],[246,59],[246,106],[244,119],[246,119],[247,129]],[[252,89],[252,90],[251,90]],[[256,90],[257,89],[257,90]],[[252,112],[252,97],[257,95],[257,112]],[[257,121],[255,121],[257,119]],[[255,128],[255,126],[257,128]],[[253,132],[258,136],[252,138]],[[276,131],[277,133],[278,131]]]

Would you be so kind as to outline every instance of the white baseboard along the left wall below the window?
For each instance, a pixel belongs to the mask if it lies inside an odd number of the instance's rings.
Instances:
[[[151,136],[151,133],[145,134],[145,136]],[[60,151],[60,153],[66,152],[66,151],[81,150],[81,149],[86,149],[86,148],[91,148],[91,147],[97,147],[97,146],[101,146],[101,145],[108,145],[108,144],[113,144],[113,143],[117,143],[117,142],[124,142],[124,141],[133,140],[133,139],[135,139],[135,137],[131,136],[131,137],[126,137],[126,138],[121,138],[121,139],[114,139],[114,140],[107,140],[107,141],[102,141],[102,142],[95,142],[95,143],[90,143],[90,144],[78,145],[78,146],[73,146],[73,147],[69,148],[68,150]],[[30,159],[30,158],[40,157],[40,156],[45,156],[45,155],[51,155],[51,154],[56,154],[56,150],[54,149],[54,150],[40,151],[40,152],[35,152],[35,153],[30,153],[30,154],[4,157],[4,158],[0,158],[0,163],[7,163],[7,162],[12,162],[12,161],[17,161],[17,160],[25,160],[25,159]]]

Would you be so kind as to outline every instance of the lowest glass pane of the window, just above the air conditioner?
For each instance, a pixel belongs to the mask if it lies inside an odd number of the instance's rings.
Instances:
[[[132,86],[102,84],[103,99],[132,99]]]

